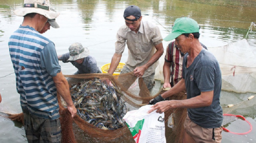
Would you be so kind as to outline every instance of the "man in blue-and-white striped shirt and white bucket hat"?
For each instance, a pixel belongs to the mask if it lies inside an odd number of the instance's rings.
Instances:
[[[23,8],[14,13],[24,17],[8,44],[27,140],[60,142],[57,92],[67,103],[72,117],[76,115],[76,108],[68,81],[60,70],[54,43],[39,33],[48,19],[59,14],[50,10],[48,0],[25,0]]]

